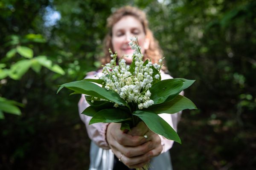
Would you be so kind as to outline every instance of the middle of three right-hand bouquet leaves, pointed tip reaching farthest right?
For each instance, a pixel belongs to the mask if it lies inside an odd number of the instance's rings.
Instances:
[[[183,111],[184,109],[197,109],[195,104],[189,100],[188,98],[177,95],[175,99],[169,102],[163,102],[158,105],[152,105],[151,107],[145,109],[148,111],[152,111],[154,113],[177,113],[179,111]]]

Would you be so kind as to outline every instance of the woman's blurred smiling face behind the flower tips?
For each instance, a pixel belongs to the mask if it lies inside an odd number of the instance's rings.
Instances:
[[[140,51],[144,54],[145,50],[148,49],[149,39],[146,38],[143,25],[137,18],[126,15],[112,27],[113,50],[117,52],[118,58],[121,58],[125,54],[128,55],[129,57],[124,57],[128,64],[132,62],[134,51],[128,43],[131,41],[130,38],[134,36],[138,38],[141,47]]]

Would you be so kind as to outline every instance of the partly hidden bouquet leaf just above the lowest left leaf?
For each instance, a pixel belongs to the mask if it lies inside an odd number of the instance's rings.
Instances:
[[[102,103],[101,105],[97,105],[97,106],[89,106],[86,109],[84,109],[84,111],[82,112],[82,114],[85,114],[87,116],[94,116],[97,112],[103,110],[103,109],[110,109],[113,108],[113,103],[111,102],[105,102]]]

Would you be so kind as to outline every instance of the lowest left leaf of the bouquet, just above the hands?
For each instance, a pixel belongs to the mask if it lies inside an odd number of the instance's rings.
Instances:
[[[103,109],[96,113],[89,122],[89,125],[93,123],[111,123],[111,122],[123,122],[131,120],[131,115],[119,108],[115,109]]]

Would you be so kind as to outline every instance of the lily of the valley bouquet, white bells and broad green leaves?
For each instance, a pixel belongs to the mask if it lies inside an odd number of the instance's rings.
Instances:
[[[121,130],[131,130],[143,121],[154,133],[181,144],[175,130],[158,114],[196,109],[191,100],[179,95],[195,80],[161,80],[163,60],[154,64],[148,59],[143,61],[136,37],[131,38],[129,45],[134,49],[131,65],[126,65],[123,58],[126,56],[119,59],[117,65],[117,54],[109,49],[112,59],[102,65],[99,79],[65,83],[58,92],[65,87],[73,90],[73,94],[85,94],[90,106],[82,114],[92,116],[89,125],[118,122]]]

